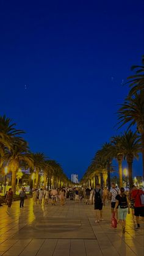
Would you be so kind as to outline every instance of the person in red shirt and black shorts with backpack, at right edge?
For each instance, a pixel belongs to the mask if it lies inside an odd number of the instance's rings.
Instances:
[[[135,185],[132,186],[131,198],[134,199],[134,216],[136,218],[137,227],[136,231],[140,230],[140,217],[144,217],[144,192],[142,189],[137,188]]]

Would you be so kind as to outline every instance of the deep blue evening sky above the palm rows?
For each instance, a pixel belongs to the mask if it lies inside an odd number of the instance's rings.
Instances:
[[[0,114],[69,177],[117,134],[121,84],[144,52],[143,10],[142,0],[0,2]]]

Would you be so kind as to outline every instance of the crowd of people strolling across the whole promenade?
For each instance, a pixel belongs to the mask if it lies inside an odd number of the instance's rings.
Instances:
[[[122,226],[123,233],[126,229],[126,216],[132,214],[132,219],[135,225],[135,230],[140,230],[140,217],[144,217],[144,192],[142,189],[133,185],[130,191],[125,191],[124,188],[118,188],[115,183],[112,183],[110,191],[105,187],[101,188],[96,184],[96,188],[52,188],[39,189],[36,188],[32,192],[34,205],[41,205],[42,203],[48,205],[65,205],[67,199],[75,200],[75,203],[85,203],[86,205],[94,205],[96,212],[96,223],[103,221],[103,207],[110,203],[111,213]],[[20,191],[20,208],[24,207],[24,199],[26,198],[26,191],[24,188]],[[5,202],[10,208],[13,202],[12,188],[9,189],[5,195]]]

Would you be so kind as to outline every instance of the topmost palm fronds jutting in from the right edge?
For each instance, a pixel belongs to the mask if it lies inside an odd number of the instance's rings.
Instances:
[[[132,96],[140,90],[144,90],[144,55],[142,56],[142,66],[132,66],[131,70],[135,70],[135,75],[129,76],[127,79],[129,81],[129,87],[131,90],[129,91],[129,95]]]

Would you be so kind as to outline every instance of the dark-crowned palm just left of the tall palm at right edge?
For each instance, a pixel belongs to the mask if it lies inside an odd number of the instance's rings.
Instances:
[[[121,137],[121,148],[123,148],[124,158],[128,163],[129,186],[132,188],[132,162],[134,158],[139,158],[141,151],[140,136],[137,135],[137,132],[125,131]]]

